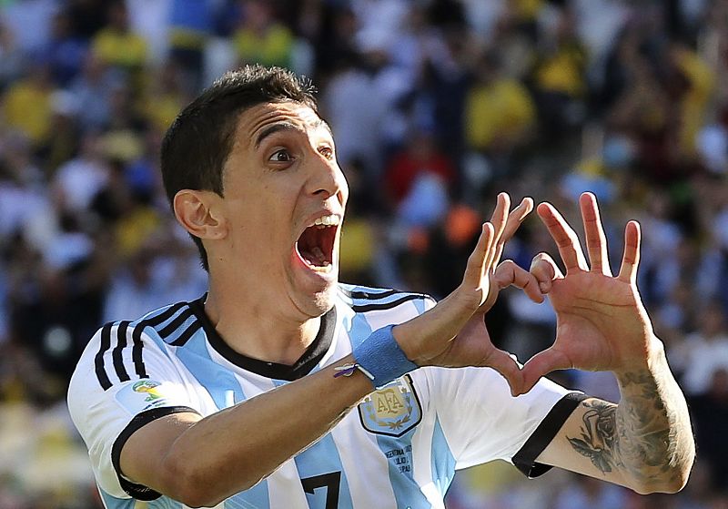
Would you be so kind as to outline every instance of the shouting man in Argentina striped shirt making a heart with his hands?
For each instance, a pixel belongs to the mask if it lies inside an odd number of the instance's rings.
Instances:
[[[337,282],[347,185],[288,71],[223,76],[170,127],[162,171],[209,291],[106,324],[79,361],[68,402],[107,507],[442,507],[456,469],[496,458],[640,493],[685,484],[693,437],[636,290],[639,228],[613,278],[593,196],[591,269],[549,204],[538,212],[566,275],[545,254],[530,272],[499,264],[532,208],[501,194],[462,283],[435,304]],[[483,324],[510,284],[548,293],[559,317],[522,370]],[[541,379],[568,367],[614,372],[619,404]]]

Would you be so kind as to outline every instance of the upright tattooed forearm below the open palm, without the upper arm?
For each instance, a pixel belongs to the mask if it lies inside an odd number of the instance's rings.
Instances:
[[[695,443],[685,398],[654,339],[647,364],[615,373],[622,397],[615,460],[640,492],[678,491],[693,466]]]

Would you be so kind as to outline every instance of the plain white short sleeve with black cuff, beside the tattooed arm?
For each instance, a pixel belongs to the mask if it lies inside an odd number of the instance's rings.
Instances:
[[[511,396],[490,368],[427,368],[430,397],[456,469],[501,459],[531,477],[549,470],[536,458],[583,399],[547,379]]]

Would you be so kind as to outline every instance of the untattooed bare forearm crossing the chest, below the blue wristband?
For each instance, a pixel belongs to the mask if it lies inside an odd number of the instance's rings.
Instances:
[[[335,365],[348,361],[350,356]],[[168,449],[158,489],[187,504],[214,505],[257,484],[328,433],[372,391],[362,373],[335,379],[333,368],[189,426]]]

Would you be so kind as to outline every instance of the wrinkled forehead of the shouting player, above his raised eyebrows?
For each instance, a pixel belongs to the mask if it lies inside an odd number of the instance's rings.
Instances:
[[[237,145],[258,148],[262,138],[278,130],[311,133],[329,126],[310,107],[294,101],[264,103],[250,107],[238,117]]]

